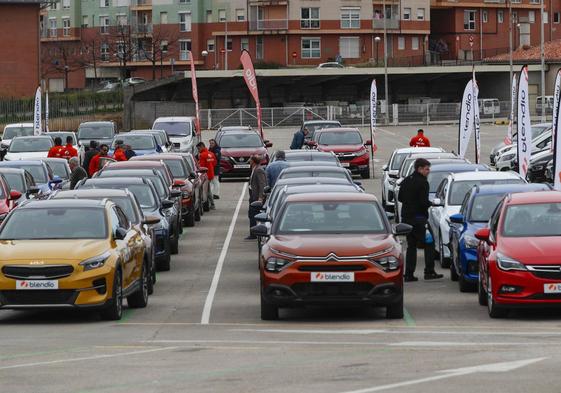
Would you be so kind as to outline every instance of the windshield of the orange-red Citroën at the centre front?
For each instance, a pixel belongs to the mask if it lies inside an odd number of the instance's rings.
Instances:
[[[277,233],[385,233],[386,226],[374,203],[290,203],[280,217]]]

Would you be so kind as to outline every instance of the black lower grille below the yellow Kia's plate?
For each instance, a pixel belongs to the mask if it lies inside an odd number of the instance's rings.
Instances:
[[[4,306],[74,304],[77,295],[71,289],[0,291],[0,303]]]

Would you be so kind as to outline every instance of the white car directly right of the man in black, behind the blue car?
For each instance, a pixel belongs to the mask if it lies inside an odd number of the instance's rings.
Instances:
[[[473,186],[483,184],[526,183],[515,172],[463,172],[449,174],[438,186],[433,206],[429,208],[428,225],[439,254],[440,264],[450,266],[450,216],[460,212],[466,194]]]

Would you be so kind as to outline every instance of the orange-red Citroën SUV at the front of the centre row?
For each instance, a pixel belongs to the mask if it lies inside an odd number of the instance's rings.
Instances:
[[[279,307],[314,304],[383,306],[388,318],[403,318],[403,258],[395,236],[410,230],[398,224],[392,231],[370,194],[288,196],[271,225],[252,228],[264,242],[261,319],[277,319]]]

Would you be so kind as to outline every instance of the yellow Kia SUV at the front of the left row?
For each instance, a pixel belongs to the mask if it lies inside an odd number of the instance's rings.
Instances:
[[[92,307],[108,320],[146,307],[145,245],[108,199],[31,201],[0,227],[0,308]]]

